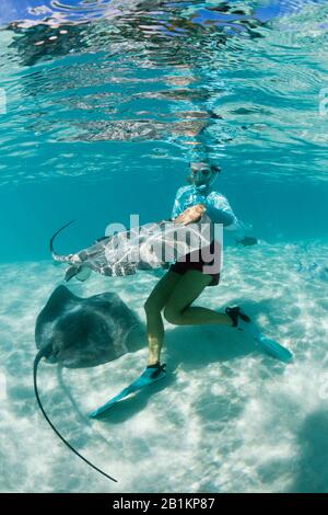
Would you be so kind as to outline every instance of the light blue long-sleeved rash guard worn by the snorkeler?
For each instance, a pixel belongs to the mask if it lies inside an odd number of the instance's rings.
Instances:
[[[213,224],[223,224],[225,229],[236,230],[239,222],[224,195],[213,192],[211,187],[197,187],[195,185],[179,187],[172,211],[172,218],[176,218],[188,207],[203,204],[207,215]]]

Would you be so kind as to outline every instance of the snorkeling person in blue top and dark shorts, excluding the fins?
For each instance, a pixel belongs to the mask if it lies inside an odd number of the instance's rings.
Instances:
[[[172,218],[175,224],[197,221],[202,213],[213,224],[222,224],[224,228],[235,230],[238,220],[227,199],[212,190],[212,184],[221,169],[207,161],[190,163],[189,185],[177,191]],[[186,210],[187,209],[187,210]],[[220,252],[219,243],[213,239],[210,244],[212,259]],[[164,374],[161,365],[161,350],[164,340],[164,318],[175,325],[231,325],[237,327],[250,319],[238,307],[226,308],[225,313],[209,308],[192,307],[191,304],[207,286],[215,286],[220,281],[220,270],[204,273],[202,260],[195,262],[190,254],[184,261],[175,262],[156,284],[144,304],[147,316],[147,334],[149,344],[148,369],[152,377]],[[218,258],[218,255],[216,255]],[[216,260],[220,263],[220,259]]]

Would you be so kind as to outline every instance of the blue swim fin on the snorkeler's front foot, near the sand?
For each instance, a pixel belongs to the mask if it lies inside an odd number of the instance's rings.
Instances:
[[[147,367],[141,374],[141,376],[138,377],[138,379],[131,382],[131,385],[129,385],[128,387],[124,388],[117,396],[113,397],[113,399],[107,401],[105,404],[91,412],[89,416],[91,419],[95,419],[99,414],[107,411],[113,404],[126,398],[130,393],[141,390],[145,386],[159,381],[160,379],[164,379],[164,377],[166,376],[165,366],[166,365],[164,363],[163,365]]]

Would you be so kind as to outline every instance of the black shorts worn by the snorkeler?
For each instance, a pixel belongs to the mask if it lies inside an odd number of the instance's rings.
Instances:
[[[175,272],[176,274],[184,275],[188,270],[197,270],[198,272],[201,272],[204,275],[210,275],[212,276],[212,281],[208,286],[216,286],[220,282],[220,259],[218,258],[220,254],[220,245],[219,243],[213,240],[211,244],[206,249],[202,249],[202,254],[209,250],[212,255],[215,255],[210,261],[204,261],[203,255],[199,255],[198,261],[195,261],[191,259],[192,254],[195,255],[195,252],[189,252],[184,256],[183,261],[176,261],[173,265],[169,266],[171,272]],[[197,254],[199,251],[196,251]],[[215,264],[215,268],[213,273],[208,273],[203,271],[204,266],[211,266],[214,263],[214,260],[218,260],[218,263]]]

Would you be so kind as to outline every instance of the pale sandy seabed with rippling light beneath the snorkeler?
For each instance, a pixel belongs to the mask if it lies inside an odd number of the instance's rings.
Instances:
[[[290,365],[230,328],[166,324],[164,381],[115,405],[101,421],[87,413],[138,377],[147,348],[94,368],[42,363],[33,391],[35,319],[63,270],[49,262],[1,264],[1,492],[327,492],[328,298],[324,244],[230,248],[219,287],[197,305],[241,305],[262,332],[294,354]],[[300,270],[300,261],[302,266]],[[313,262],[319,266],[312,266]],[[150,273],[71,284],[87,297],[116,291],[144,321]]]

